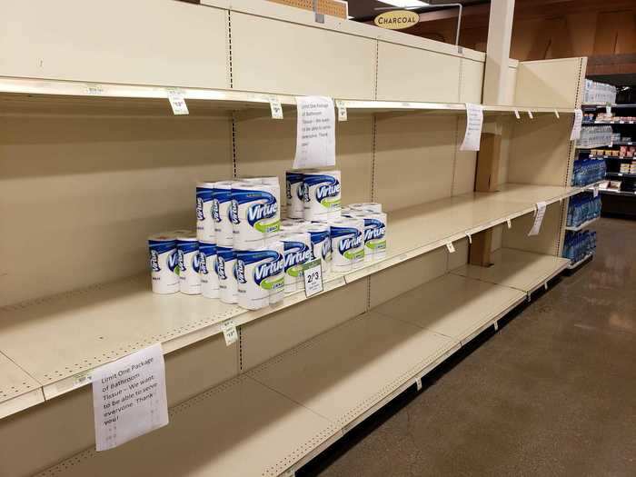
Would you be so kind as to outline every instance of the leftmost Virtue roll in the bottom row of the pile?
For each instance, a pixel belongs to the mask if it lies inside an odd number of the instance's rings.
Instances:
[[[148,237],[150,252],[150,278],[154,293],[169,294],[179,291],[179,265],[176,235],[165,232]]]

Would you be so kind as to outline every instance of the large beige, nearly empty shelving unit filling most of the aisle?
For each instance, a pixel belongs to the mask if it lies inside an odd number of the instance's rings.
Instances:
[[[502,185],[478,193],[477,154],[459,144],[482,53],[250,0],[115,0],[99,24],[80,0],[0,5],[2,475],[294,472],[567,264],[584,58],[510,60],[505,104],[483,105]],[[172,114],[173,89],[188,116]],[[192,228],[196,181],[283,180],[296,94],[347,108],[343,202],[383,203],[387,257],[257,312],[151,293],[145,238]],[[486,230],[494,265],[468,265]],[[94,452],[87,375],[157,342],[170,425]]]

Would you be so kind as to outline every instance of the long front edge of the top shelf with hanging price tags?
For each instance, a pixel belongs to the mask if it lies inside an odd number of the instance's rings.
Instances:
[[[268,94],[246,91],[184,88],[158,85],[86,83],[78,81],[42,80],[32,78],[0,77],[0,94],[15,99],[38,97],[53,98],[91,98],[131,99],[131,100],[167,100],[171,92],[182,94],[184,99],[196,105],[204,103],[214,109],[268,109],[272,100],[278,100],[283,107],[296,105],[296,97],[289,94]],[[334,98],[334,102],[347,110],[360,113],[391,111],[438,111],[465,112],[463,103],[424,103],[408,101],[348,100]],[[170,108],[165,101],[165,111]],[[573,114],[574,109],[561,107],[533,107],[513,105],[482,104],[486,114]]]

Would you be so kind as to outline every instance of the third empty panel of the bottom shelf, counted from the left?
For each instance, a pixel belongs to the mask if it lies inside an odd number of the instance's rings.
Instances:
[[[373,311],[444,334],[463,345],[525,298],[520,290],[449,273]]]

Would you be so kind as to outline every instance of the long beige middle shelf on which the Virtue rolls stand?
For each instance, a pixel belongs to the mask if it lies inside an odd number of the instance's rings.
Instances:
[[[389,214],[390,244],[382,262],[325,277],[325,292],[377,273],[446,243],[503,224],[580,192],[577,187],[503,184],[498,193],[470,193]],[[0,310],[0,351],[43,386],[46,399],[88,383],[86,374],[152,343],[164,353],[222,333],[221,323],[249,323],[306,300],[303,292],[253,312],[201,296],[156,295],[137,276],[88,290]],[[55,333],[54,333],[55,332]],[[50,336],[57,337],[50,340]],[[3,376],[0,375],[0,383]],[[5,384],[2,384],[4,387]],[[16,409],[15,412],[19,411]]]

